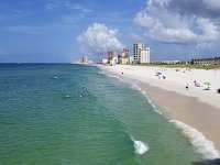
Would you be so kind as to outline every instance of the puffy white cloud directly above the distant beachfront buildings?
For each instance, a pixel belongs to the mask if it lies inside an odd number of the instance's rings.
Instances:
[[[105,24],[94,23],[77,37],[84,53],[106,53],[108,50],[120,50],[123,44],[118,38],[118,30],[109,30]]]

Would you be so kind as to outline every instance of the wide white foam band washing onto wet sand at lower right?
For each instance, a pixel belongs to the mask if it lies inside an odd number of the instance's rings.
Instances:
[[[213,143],[207,140],[201,132],[177,120],[169,120],[169,122],[182,130],[196,151],[201,153],[205,158],[215,160],[220,157],[219,151],[215,148]]]

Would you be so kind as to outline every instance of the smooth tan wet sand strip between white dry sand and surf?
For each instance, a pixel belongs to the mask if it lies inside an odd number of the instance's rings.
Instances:
[[[147,98],[169,119],[191,125],[215,143],[220,151],[220,110],[197,98],[167,91],[158,87],[139,82]]]

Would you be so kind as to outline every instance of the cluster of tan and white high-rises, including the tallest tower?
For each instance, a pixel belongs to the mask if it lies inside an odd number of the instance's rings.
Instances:
[[[128,47],[124,47],[121,53],[111,50],[108,52],[108,57],[101,59],[102,64],[147,64],[150,63],[150,47],[145,46],[144,42],[133,44],[133,55],[130,55]]]

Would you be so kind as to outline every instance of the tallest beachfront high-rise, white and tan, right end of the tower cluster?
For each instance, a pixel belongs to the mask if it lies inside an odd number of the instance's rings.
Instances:
[[[146,47],[144,42],[133,44],[133,63],[150,63],[150,47]]]

